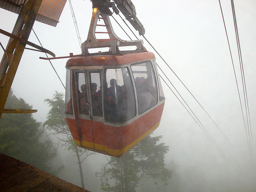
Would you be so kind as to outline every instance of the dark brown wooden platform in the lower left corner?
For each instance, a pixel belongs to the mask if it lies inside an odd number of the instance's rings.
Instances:
[[[0,153],[1,192],[89,192]]]

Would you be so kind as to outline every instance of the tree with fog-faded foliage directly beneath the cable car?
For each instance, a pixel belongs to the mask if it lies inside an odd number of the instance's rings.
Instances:
[[[165,168],[164,155],[168,146],[157,144],[162,136],[147,136],[120,158],[111,157],[96,176],[101,179],[101,189],[113,192],[136,192],[141,182],[167,185],[172,171]],[[114,185],[113,185],[114,183]]]

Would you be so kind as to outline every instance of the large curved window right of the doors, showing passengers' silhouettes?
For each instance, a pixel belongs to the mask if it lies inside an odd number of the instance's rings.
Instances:
[[[136,105],[128,68],[107,69],[105,75],[105,120],[109,122],[125,122],[130,120],[136,115]]]

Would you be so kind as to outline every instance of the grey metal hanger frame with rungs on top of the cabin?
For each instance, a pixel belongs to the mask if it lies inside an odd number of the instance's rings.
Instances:
[[[99,17],[101,16],[101,17]],[[97,25],[98,19],[103,19],[104,23],[107,29],[107,33],[109,35],[109,39],[96,39],[95,36],[95,29]],[[109,47],[110,51],[112,54],[117,54],[118,47],[120,46],[136,46],[136,50],[134,52],[140,52],[144,50],[143,47],[143,41],[142,40],[134,40],[134,41],[125,41],[114,33],[114,30],[112,28],[112,25],[110,23],[109,16],[107,14],[103,14],[100,12],[98,8],[94,8],[92,12],[92,20],[90,23],[90,28],[88,32],[88,37],[87,40],[82,43],[82,55],[87,55],[88,54],[88,49],[89,48],[103,48],[103,47]]]

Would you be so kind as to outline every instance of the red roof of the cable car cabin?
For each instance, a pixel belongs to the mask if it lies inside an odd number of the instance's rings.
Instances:
[[[152,52],[140,52],[124,55],[101,55],[74,57],[67,61],[66,67],[74,66],[115,66],[154,59]]]

